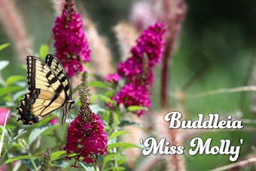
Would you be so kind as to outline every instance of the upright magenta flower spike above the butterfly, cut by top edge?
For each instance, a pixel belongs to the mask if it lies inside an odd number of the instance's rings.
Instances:
[[[60,59],[69,77],[84,71],[83,62],[90,62],[90,50],[84,34],[81,16],[71,0],[66,0],[62,15],[56,17],[53,27],[56,57]]]

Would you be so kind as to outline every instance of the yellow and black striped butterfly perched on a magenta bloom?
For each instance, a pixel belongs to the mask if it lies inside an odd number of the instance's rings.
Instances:
[[[59,59],[47,55],[45,62],[35,56],[27,56],[27,83],[29,93],[17,107],[17,121],[32,124],[40,121],[54,110],[61,108],[60,118],[63,125],[66,115],[75,106],[69,78]]]

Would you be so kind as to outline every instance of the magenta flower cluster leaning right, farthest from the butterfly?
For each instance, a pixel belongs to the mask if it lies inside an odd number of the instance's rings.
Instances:
[[[163,53],[165,28],[163,23],[149,26],[136,40],[131,49],[131,56],[125,62],[120,62],[116,74],[110,74],[105,80],[117,83],[120,78],[126,80],[126,85],[117,92],[112,100],[124,107],[151,107],[150,88],[154,80],[152,68],[160,62]],[[144,110],[136,111],[136,115],[143,115]]]

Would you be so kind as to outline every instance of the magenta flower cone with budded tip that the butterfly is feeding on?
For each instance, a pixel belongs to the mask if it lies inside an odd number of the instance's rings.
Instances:
[[[75,164],[81,157],[84,157],[82,161],[93,163],[99,154],[106,154],[108,137],[101,119],[90,110],[84,91],[80,89],[79,95],[81,107],[75,120],[69,124],[64,150],[67,154],[72,151],[77,154]],[[72,166],[77,167],[75,164]]]

